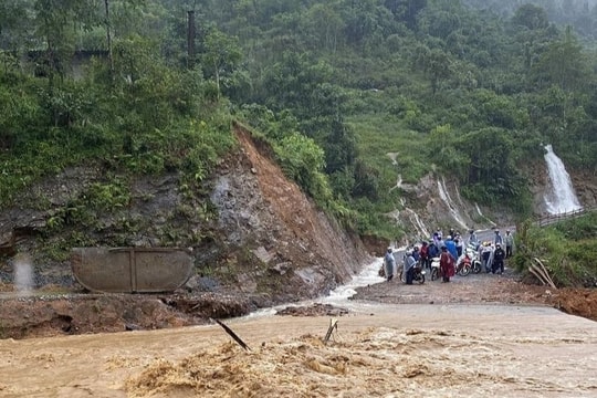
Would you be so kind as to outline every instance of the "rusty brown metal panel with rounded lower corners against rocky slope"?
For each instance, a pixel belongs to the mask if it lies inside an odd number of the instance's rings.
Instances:
[[[176,248],[75,248],[72,270],[94,292],[171,292],[190,277],[192,258]]]

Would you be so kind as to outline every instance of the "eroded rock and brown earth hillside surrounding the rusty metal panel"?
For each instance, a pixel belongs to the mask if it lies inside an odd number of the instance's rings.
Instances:
[[[45,179],[24,192],[18,206],[2,211],[3,337],[190,325],[315,297],[349,280],[368,261],[360,240],[284,177],[266,145],[240,127],[235,134],[240,145],[205,185],[209,196],[203,199],[189,198],[174,174],[138,177],[129,180],[127,208],[93,212],[96,228],[76,222],[53,228],[54,214],[102,181],[107,171],[94,165]],[[208,197],[206,205],[201,200]],[[189,211],[201,206],[213,206],[218,217]],[[126,217],[135,230],[124,230]],[[85,293],[73,279],[70,259],[44,256],[73,235],[96,245],[190,248],[196,273],[175,294]],[[23,259],[32,265],[29,292],[18,292],[13,283],[15,264]]]

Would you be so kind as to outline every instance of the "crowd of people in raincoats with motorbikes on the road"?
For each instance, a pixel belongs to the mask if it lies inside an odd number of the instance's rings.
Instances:
[[[440,229],[433,232],[428,241],[422,241],[411,250],[407,250],[404,258],[404,273],[407,284],[412,284],[415,266],[431,268],[434,258],[440,259],[440,273],[442,282],[450,282],[450,277],[455,274],[457,261],[463,254],[465,247],[478,251],[479,259],[488,273],[501,274],[504,272],[504,260],[512,256],[514,249],[514,237],[510,230],[502,237],[500,230],[495,229],[493,241],[480,242],[474,230],[469,230],[469,237],[464,240],[460,232],[450,229],[450,234],[443,239]],[[505,247],[505,250],[504,250]],[[385,275],[387,281],[394,277],[396,259],[392,249],[388,248],[385,258]]]

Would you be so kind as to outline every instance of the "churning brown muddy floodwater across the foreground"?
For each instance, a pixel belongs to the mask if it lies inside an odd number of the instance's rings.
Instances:
[[[597,323],[541,306],[360,305],[0,341],[1,397],[595,397]]]

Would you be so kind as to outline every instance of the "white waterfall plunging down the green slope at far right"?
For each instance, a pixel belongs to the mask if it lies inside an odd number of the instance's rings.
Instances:
[[[552,192],[545,196],[545,205],[549,214],[558,214],[568,211],[579,210],[580,206],[578,198],[574,191],[570,176],[564,167],[561,158],[554,154],[552,145],[546,145],[545,161],[549,171],[549,186]]]

